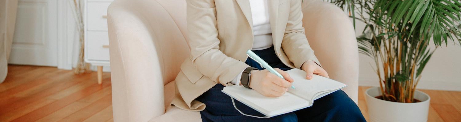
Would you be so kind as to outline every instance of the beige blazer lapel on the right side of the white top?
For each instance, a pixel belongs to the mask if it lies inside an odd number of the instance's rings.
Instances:
[[[271,32],[272,32],[272,42],[274,43],[274,48],[277,48],[278,42],[282,40],[277,40],[277,23],[278,23],[278,4],[279,0],[267,0],[269,7],[269,21],[271,23]]]

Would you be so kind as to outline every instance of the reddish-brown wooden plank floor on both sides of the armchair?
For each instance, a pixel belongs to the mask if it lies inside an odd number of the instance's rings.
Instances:
[[[113,122],[110,73],[74,75],[55,67],[9,65],[0,84],[0,122]],[[363,92],[359,107],[368,119]],[[461,92],[422,90],[431,96],[428,122],[461,122]]]

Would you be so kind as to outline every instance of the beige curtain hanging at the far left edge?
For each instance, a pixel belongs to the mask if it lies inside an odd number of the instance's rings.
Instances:
[[[0,0],[0,83],[8,73],[18,0]]]

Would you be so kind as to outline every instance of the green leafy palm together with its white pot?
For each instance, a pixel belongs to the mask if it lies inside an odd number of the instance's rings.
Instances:
[[[366,90],[373,122],[426,122],[429,95],[416,90],[434,51],[461,44],[459,0],[329,0],[366,24],[359,52],[374,59],[380,87]],[[435,47],[430,47],[433,43]]]

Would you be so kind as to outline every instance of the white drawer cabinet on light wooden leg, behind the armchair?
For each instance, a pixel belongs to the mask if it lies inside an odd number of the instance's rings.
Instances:
[[[102,83],[102,66],[109,66],[107,7],[113,0],[85,0],[85,62],[98,67],[98,83]]]

